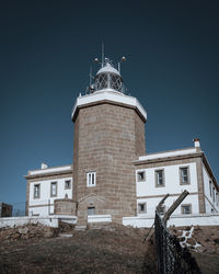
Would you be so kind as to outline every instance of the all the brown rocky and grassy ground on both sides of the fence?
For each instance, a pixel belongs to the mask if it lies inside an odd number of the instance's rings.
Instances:
[[[173,230],[177,235],[182,228]],[[42,225],[0,229],[0,274],[155,274],[154,238],[142,243],[148,231],[122,225],[85,231],[66,225],[59,229]],[[194,229],[193,237],[201,247],[191,251],[203,274],[219,274],[218,233],[218,227]]]

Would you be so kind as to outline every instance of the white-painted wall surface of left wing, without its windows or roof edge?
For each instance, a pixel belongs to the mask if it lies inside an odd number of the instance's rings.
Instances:
[[[71,181],[71,189],[65,190],[65,181]],[[50,183],[57,182],[57,196],[50,196]],[[34,185],[41,185],[41,196],[39,198],[34,198]],[[38,182],[30,183],[30,208],[28,216],[39,215],[39,216],[48,216],[49,214],[54,214],[54,201],[57,198],[65,198],[65,195],[68,195],[68,198],[72,198],[72,178],[61,178],[56,180],[44,180]],[[49,206],[50,204],[50,206]],[[44,206],[43,206],[44,205]],[[32,207],[37,206],[37,207]]]

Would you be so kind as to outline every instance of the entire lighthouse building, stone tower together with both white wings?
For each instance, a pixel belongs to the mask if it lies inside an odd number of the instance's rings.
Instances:
[[[102,62],[90,93],[78,96],[71,118],[73,164],[43,164],[28,172],[28,215],[61,213],[55,204],[71,201],[70,214],[79,225],[123,222],[129,216],[154,215],[169,193],[164,214],[184,190],[189,195],[175,214],[219,212],[219,187],[199,140],[188,149],[147,155],[147,113],[136,98],[124,93],[120,72],[108,59]]]

